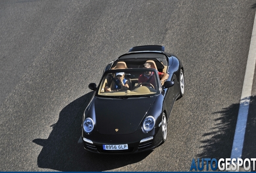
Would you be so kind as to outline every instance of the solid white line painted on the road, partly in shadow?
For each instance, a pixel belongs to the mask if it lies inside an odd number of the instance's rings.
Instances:
[[[254,77],[255,62],[256,62],[256,15],[254,17],[252,38],[250,43],[247,65],[246,65],[246,72],[244,76],[244,85],[243,85],[237,123],[235,128],[235,136],[234,136],[233,147],[231,151],[231,159],[232,158],[237,159],[242,157],[242,150],[244,147],[244,135],[246,131],[250,97],[252,93],[252,83],[253,83],[253,77]]]

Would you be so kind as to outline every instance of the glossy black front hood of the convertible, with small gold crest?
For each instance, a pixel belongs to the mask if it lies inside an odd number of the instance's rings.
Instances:
[[[99,133],[121,135],[134,133],[156,97],[136,99],[95,100],[96,123]]]

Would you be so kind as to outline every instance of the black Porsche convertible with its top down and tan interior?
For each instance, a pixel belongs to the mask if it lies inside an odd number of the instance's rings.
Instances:
[[[169,74],[167,80],[161,81],[161,72]],[[184,94],[184,68],[164,46],[136,46],[107,64],[99,85],[91,83],[89,89],[95,93],[83,115],[84,148],[109,154],[148,151],[166,140],[174,101]]]

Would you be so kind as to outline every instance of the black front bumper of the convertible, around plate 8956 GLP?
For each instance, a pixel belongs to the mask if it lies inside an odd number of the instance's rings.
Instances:
[[[93,132],[88,135],[83,131],[83,145],[87,151],[105,154],[128,154],[149,151],[156,148],[162,142],[162,134],[159,131],[161,127],[155,127],[149,133],[143,133],[141,129],[132,134],[125,135],[102,135],[99,132]],[[153,137],[153,139],[142,141]],[[128,144],[128,149],[124,150],[104,150],[103,145],[122,145]]]

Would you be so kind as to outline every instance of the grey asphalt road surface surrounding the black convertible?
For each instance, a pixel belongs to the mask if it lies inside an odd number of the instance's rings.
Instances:
[[[0,171],[189,171],[193,158],[229,158],[255,9],[255,0],[1,0]],[[85,151],[88,84],[147,44],[185,67],[167,141],[136,155]],[[256,81],[251,99],[244,158],[256,158]]]

